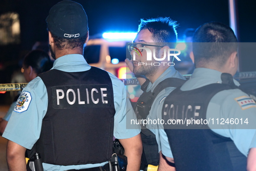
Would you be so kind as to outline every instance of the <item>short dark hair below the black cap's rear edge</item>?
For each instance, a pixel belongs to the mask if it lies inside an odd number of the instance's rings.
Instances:
[[[54,34],[52,34],[52,37],[54,39],[54,43],[55,43],[56,47],[60,50],[62,50],[63,48],[65,48],[65,49],[74,49],[74,48],[84,49],[84,43],[87,39],[87,34],[80,38],[77,38],[77,39],[64,39],[64,38],[60,38]]]

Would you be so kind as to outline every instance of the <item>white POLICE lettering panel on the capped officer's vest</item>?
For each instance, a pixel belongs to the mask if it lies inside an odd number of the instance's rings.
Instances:
[[[52,87],[53,108],[109,106],[110,87],[104,85],[69,85]]]

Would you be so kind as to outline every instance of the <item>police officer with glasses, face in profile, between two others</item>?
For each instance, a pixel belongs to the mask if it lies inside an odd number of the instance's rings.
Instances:
[[[138,33],[133,43],[128,44],[132,60],[126,59],[126,63],[141,83],[144,91],[139,97],[134,110],[138,120],[142,123],[146,120],[157,120],[159,103],[174,89],[181,85],[185,77],[175,70],[172,59],[167,56],[170,48],[175,48],[177,41],[176,22],[169,17],[156,19],[141,19]],[[138,53],[137,53],[137,52]],[[147,56],[150,51],[152,56]],[[172,52],[170,52],[172,53]],[[177,52],[176,52],[177,53]],[[134,58],[135,56],[135,58]],[[152,60],[148,60],[151,57]],[[156,58],[156,59],[155,59]],[[160,59],[161,60],[157,60]],[[141,78],[141,77],[146,77]],[[160,107],[162,109],[162,106]],[[159,130],[157,124],[143,126],[141,136],[143,141],[143,156],[141,170],[145,165],[159,165],[158,171],[168,171],[171,168],[164,159],[161,150],[171,153],[167,136],[163,138],[160,146]],[[165,154],[169,154],[168,152]],[[160,158],[160,159],[159,159]]]

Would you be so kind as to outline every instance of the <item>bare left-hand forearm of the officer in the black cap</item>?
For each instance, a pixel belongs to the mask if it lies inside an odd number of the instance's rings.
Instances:
[[[25,152],[26,148],[23,146],[8,141],[6,159],[9,171],[26,171]]]

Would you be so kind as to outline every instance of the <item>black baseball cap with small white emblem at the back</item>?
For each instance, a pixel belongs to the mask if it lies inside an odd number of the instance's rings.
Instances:
[[[62,0],[52,6],[46,18],[52,34],[65,39],[77,39],[87,34],[87,15],[83,6],[71,0]]]

